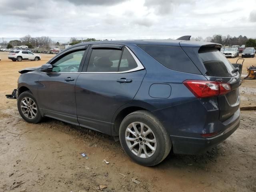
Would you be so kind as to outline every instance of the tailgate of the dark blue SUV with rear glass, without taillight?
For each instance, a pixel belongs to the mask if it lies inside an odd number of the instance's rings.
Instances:
[[[231,86],[231,91],[225,95],[218,96],[220,110],[220,121],[230,118],[240,105],[238,87],[241,84],[240,74],[234,71],[234,66],[213,45],[201,47],[183,47],[198,69],[209,81],[225,82]]]

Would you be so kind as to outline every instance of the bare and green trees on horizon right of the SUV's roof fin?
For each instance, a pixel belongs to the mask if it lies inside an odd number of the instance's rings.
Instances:
[[[205,39],[202,38],[201,36],[198,36],[196,38],[192,37],[190,40],[194,41],[206,41],[206,42],[213,42],[213,43],[218,43],[222,44],[223,46],[232,46],[232,45],[245,45],[246,47],[256,47],[256,39],[253,38],[247,38],[246,36],[222,36],[220,34],[216,34],[213,36],[208,36]]]

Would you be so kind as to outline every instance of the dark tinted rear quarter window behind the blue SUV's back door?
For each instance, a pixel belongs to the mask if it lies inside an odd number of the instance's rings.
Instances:
[[[196,66],[180,47],[148,45],[140,45],[139,47],[169,69],[200,74]]]

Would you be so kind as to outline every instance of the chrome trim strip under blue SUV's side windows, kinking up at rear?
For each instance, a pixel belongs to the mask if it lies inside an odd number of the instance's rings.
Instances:
[[[116,73],[129,73],[129,72],[134,72],[134,71],[139,71],[142,69],[145,69],[144,66],[142,65],[142,63],[140,62],[140,60],[138,60],[138,58],[136,57],[136,55],[130,50],[130,48],[128,48],[127,46],[124,46],[127,48],[127,50],[130,52],[130,54],[132,55],[132,57],[134,58],[136,64],[138,65],[136,68],[133,68],[131,70],[127,70],[127,71],[120,71],[120,72],[50,72],[48,74],[84,74],[84,73],[92,73],[92,74],[102,74],[102,73],[112,73],[112,74],[116,74]],[[42,72],[42,73],[46,73],[46,72]]]

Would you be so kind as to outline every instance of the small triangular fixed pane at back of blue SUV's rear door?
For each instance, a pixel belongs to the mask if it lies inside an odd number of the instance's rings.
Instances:
[[[136,61],[134,60],[128,49],[124,48],[124,52],[120,61],[119,71],[128,71],[136,67],[138,67]]]

